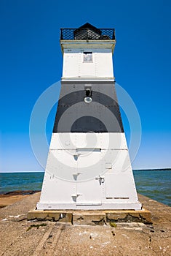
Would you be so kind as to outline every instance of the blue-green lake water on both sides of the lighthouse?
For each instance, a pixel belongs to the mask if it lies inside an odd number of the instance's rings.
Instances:
[[[171,206],[170,170],[134,170],[138,193]],[[0,193],[41,190],[44,173],[0,173]]]

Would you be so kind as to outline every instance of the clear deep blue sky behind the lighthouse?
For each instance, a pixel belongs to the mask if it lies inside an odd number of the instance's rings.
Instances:
[[[31,111],[40,94],[60,80],[60,28],[86,22],[116,29],[116,82],[134,100],[142,123],[132,167],[171,167],[170,11],[169,0],[110,0],[105,5],[96,0],[0,1],[1,171],[42,170],[29,141]],[[55,108],[47,121],[47,138],[54,117]]]

